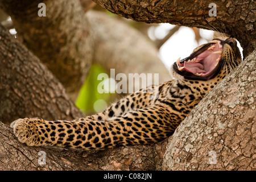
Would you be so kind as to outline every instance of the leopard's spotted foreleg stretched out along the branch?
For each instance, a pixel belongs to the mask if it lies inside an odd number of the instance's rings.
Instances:
[[[93,150],[159,142],[170,136],[179,122],[166,105],[154,105],[130,111],[108,122],[25,118],[18,119],[11,126],[19,141],[28,146]]]

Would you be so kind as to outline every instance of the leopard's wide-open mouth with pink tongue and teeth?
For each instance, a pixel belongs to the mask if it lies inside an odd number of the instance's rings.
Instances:
[[[174,69],[184,77],[209,80],[220,69],[222,45],[212,40],[183,60],[177,60]]]

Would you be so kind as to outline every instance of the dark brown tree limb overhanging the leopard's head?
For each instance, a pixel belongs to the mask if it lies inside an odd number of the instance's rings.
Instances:
[[[249,55],[256,48],[255,1],[93,0],[125,18],[147,23],[171,23],[188,27],[208,26],[237,38]],[[209,16],[209,3],[217,5],[217,16]],[[205,27],[207,28],[207,27]]]

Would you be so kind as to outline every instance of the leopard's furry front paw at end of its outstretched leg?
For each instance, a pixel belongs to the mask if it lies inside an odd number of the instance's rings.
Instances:
[[[28,146],[39,146],[38,127],[40,123],[42,123],[42,119],[39,118],[24,118],[17,119],[10,126],[19,142],[26,143]]]

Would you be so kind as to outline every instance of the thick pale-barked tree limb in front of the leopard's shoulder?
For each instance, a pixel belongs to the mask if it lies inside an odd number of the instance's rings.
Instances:
[[[256,50],[184,119],[168,141],[163,169],[256,169],[255,57]]]

